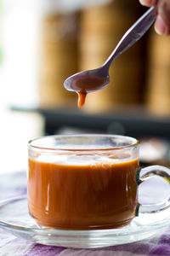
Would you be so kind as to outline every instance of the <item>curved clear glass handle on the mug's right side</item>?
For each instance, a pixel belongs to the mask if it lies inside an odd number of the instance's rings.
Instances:
[[[162,177],[164,179],[164,181],[161,179],[161,181],[164,182],[164,184],[161,184],[161,188],[162,186],[164,187],[163,191],[161,191],[162,192],[161,201],[157,200],[157,202],[147,201],[146,203],[140,203],[139,189],[142,191],[143,189],[142,186],[144,185],[144,183],[150,183],[150,180],[153,177]],[[165,166],[147,166],[139,169],[137,172],[137,185],[138,185],[138,204],[135,212],[136,216],[139,216],[139,213],[160,212],[170,207],[170,169],[169,168]],[[158,189],[157,183],[154,189],[155,191],[156,189]],[[156,192],[159,193],[159,191],[156,191]]]

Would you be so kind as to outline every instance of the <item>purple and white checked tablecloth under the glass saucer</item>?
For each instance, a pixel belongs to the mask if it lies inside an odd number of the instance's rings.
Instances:
[[[0,200],[26,194],[26,172],[0,176]],[[0,229],[0,256],[170,256],[170,228],[161,236],[127,245],[99,249],[52,247],[22,240]]]

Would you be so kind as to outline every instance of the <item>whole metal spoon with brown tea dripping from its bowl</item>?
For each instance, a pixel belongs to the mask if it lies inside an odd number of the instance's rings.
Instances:
[[[135,44],[148,31],[155,20],[156,7],[151,7],[127,30],[102,67],[76,73],[65,80],[66,90],[76,91],[84,96],[80,103],[81,106],[88,92],[101,90],[110,83],[109,68],[112,61],[115,61],[116,57]]]

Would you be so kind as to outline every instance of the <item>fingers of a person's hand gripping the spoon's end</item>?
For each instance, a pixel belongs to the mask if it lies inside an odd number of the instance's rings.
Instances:
[[[160,35],[170,35],[170,0],[139,0],[139,2],[148,7],[157,4],[155,30]]]

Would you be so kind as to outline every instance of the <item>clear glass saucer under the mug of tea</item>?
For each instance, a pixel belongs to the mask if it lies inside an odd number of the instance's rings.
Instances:
[[[29,215],[26,196],[0,201],[0,228],[29,241],[62,247],[109,247],[161,234],[170,224],[170,208],[140,213],[131,224],[110,230],[54,230],[40,228]]]

